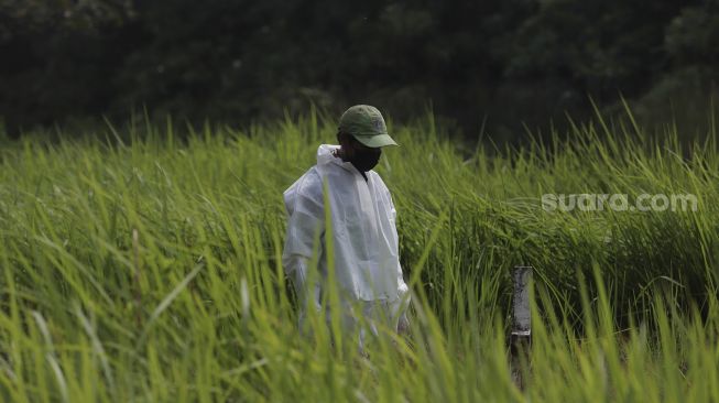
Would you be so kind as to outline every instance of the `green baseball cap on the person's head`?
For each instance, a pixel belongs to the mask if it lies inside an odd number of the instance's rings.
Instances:
[[[351,134],[357,141],[372,149],[397,145],[386,132],[382,113],[369,105],[356,105],[347,109],[339,118],[339,131]]]

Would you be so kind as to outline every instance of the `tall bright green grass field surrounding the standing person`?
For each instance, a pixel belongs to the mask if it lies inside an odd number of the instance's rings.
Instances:
[[[522,149],[391,127],[408,335],[369,359],[281,268],[282,192],[334,143],[315,115],[248,132],[128,126],[0,149],[0,400],[719,401],[719,155],[631,122]],[[543,194],[693,194],[697,211],[545,211]],[[511,270],[534,266],[511,378]]]

